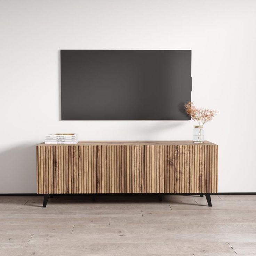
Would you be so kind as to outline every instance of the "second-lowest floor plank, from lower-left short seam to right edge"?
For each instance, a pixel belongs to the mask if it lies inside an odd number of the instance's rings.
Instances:
[[[255,242],[256,234],[247,233],[172,233],[163,232],[154,233],[154,230],[149,232],[129,232],[123,233],[122,231],[106,233],[88,233],[83,234],[34,234],[29,243],[36,244],[55,244],[55,243],[188,243],[194,242],[237,242],[241,241],[241,235],[245,242]]]

